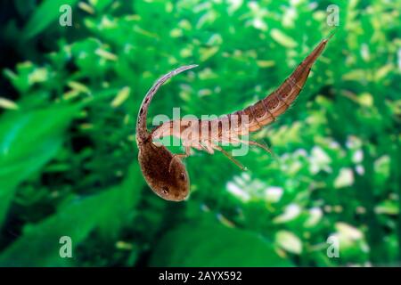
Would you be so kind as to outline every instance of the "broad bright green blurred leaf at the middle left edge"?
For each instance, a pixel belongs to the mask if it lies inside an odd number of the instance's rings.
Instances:
[[[59,105],[10,111],[0,119],[0,225],[16,187],[54,157],[77,110]]]

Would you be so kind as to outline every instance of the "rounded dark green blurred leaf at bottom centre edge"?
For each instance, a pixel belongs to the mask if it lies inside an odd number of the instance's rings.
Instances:
[[[272,244],[254,232],[221,224],[184,224],[160,240],[151,265],[291,266],[291,262],[278,256]]]

